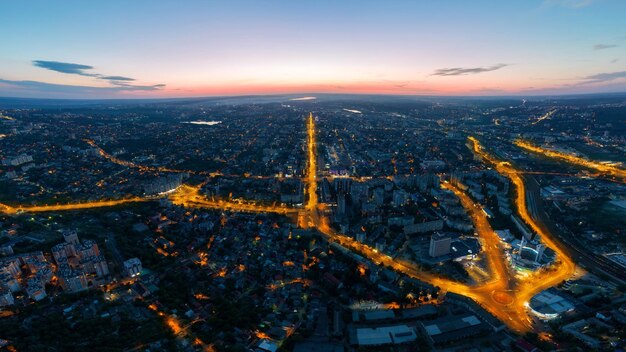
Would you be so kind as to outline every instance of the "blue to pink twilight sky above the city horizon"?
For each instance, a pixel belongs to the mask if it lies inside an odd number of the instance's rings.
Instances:
[[[0,0],[0,96],[626,92],[623,0]]]

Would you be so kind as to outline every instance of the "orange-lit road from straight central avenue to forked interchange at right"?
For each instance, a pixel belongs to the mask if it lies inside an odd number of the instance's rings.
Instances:
[[[470,137],[473,142],[474,152],[483,157],[485,161],[497,166],[498,172],[509,177],[516,189],[515,203],[518,208],[520,217],[528,223],[531,228],[539,234],[544,243],[555,250],[558,261],[554,268],[546,271],[538,271],[525,277],[524,279],[516,279],[506,267],[503,250],[500,247],[500,240],[489,225],[486,215],[482,208],[472,202],[472,200],[458,188],[451,184],[444,183],[443,188],[453,191],[461,200],[462,205],[468,210],[474,222],[478,235],[481,240],[483,250],[489,262],[489,270],[492,275],[491,280],[483,285],[470,286],[460,282],[456,282],[447,278],[443,278],[432,273],[427,273],[415,265],[406,261],[394,259],[389,255],[379,253],[377,250],[361,244],[354,239],[344,236],[334,231],[328,224],[328,217],[321,216],[324,211],[323,206],[317,204],[317,182],[316,182],[316,144],[315,144],[315,124],[314,118],[310,114],[307,122],[307,135],[309,140],[308,146],[308,167],[306,186],[306,204],[305,218],[309,225],[313,225],[320,232],[325,234],[329,241],[340,244],[361,255],[369,258],[374,263],[392,267],[394,270],[401,272],[415,279],[428,282],[432,285],[440,287],[444,291],[454,292],[469,297],[478,302],[482,307],[491,314],[499,318],[509,328],[517,332],[526,332],[532,329],[532,319],[528,312],[528,301],[537,293],[555,286],[568,279],[573,275],[575,264],[564,253],[562,247],[555,242],[547,231],[530,217],[526,208],[525,185],[522,178],[518,175],[518,171],[510,164],[503,163],[489,154],[487,154],[478,141]],[[315,209],[317,208],[317,209]]]

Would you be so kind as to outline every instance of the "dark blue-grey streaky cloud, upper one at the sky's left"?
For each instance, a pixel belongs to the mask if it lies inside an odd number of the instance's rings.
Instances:
[[[79,76],[85,76],[85,77],[93,77],[96,79],[105,80],[114,86],[117,86],[119,88],[124,88],[124,90],[156,90],[156,89],[165,87],[165,84],[155,84],[155,85],[149,85],[149,86],[134,85],[134,84],[128,83],[128,82],[135,81],[134,78],[130,78],[126,76],[109,76],[109,75],[103,75],[100,73],[88,72],[94,69],[94,67],[90,65],[74,64],[71,62],[46,61],[46,60],[34,60],[33,65],[44,68],[46,70],[55,71],[55,72],[61,72],[61,73],[66,73],[70,75],[79,75]],[[35,81],[19,81],[19,82],[35,82]]]

